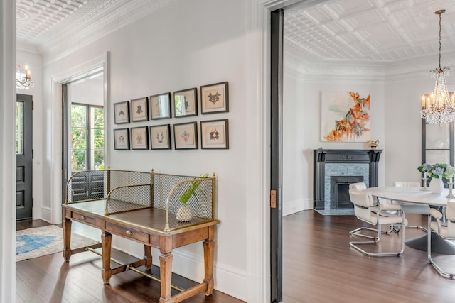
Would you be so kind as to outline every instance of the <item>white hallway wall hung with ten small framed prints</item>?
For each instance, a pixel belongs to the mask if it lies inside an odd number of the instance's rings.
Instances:
[[[197,9],[195,9],[197,8]],[[218,176],[218,219],[215,242],[215,288],[240,299],[247,297],[247,13],[245,1],[174,1],[151,16],[109,34],[75,53],[54,60],[43,58],[43,133],[46,165],[43,174],[52,175],[58,162],[58,141],[53,128],[61,115],[58,104],[50,104],[53,86],[50,79],[63,70],[90,61],[109,52],[111,96],[106,110],[113,121],[112,104],[163,92],[229,82],[230,112],[199,115],[166,121],[131,123],[129,127],[229,119],[229,150],[114,150],[112,138],[106,148],[108,163],[115,169],[200,175],[215,172]],[[199,89],[198,89],[199,90]],[[198,123],[199,124],[199,123]],[[110,123],[113,128],[124,125]],[[45,184],[43,184],[45,186]],[[55,184],[54,184],[55,186]],[[53,199],[45,193],[43,199]],[[114,246],[141,256],[137,243],[114,238]],[[193,280],[203,279],[201,243],[175,250],[173,270]],[[154,260],[158,254],[154,251]]]

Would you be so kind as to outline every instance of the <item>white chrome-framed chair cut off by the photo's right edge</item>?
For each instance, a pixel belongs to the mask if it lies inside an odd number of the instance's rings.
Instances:
[[[432,221],[432,217],[436,219],[436,221]],[[441,226],[441,219],[442,214],[440,211],[436,209],[429,209],[429,216],[428,216],[428,260],[431,265],[433,265],[434,269],[439,272],[439,275],[448,278],[454,278],[455,273],[445,272],[442,270],[434,260],[432,259],[432,232],[437,233],[441,238],[446,240],[455,241],[455,202],[447,202],[446,208],[446,219],[447,219],[447,226]],[[450,258],[439,256],[438,258]],[[453,258],[453,257],[452,257]],[[452,262],[453,263],[453,262]]]

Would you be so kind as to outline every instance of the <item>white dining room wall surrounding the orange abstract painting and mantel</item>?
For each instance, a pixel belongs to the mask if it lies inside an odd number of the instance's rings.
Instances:
[[[384,149],[379,163],[379,185],[385,184],[387,157],[385,136],[385,79],[368,69],[321,66],[304,62],[299,52],[284,45],[283,94],[283,214],[313,208],[313,150],[369,149],[368,143],[321,141],[321,92],[370,94],[370,138]],[[343,72],[340,72],[343,69]]]

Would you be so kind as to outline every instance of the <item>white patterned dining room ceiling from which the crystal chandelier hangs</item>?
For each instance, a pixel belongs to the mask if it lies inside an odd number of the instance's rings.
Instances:
[[[319,0],[285,11],[285,41],[315,60],[390,63],[455,50],[454,0]],[[310,3],[310,2],[309,2]]]

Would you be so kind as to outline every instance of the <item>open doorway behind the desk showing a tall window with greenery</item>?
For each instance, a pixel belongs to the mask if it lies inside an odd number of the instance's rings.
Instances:
[[[90,180],[77,180],[75,200],[87,200],[97,195],[104,184],[105,169],[105,108],[104,73],[95,72],[75,82],[63,84],[63,199],[66,183],[75,173],[100,170]]]

